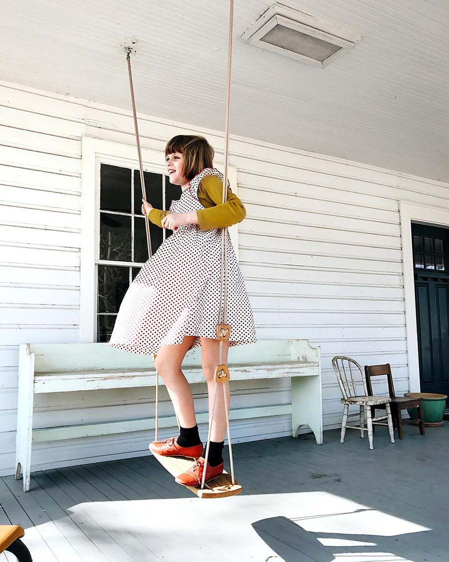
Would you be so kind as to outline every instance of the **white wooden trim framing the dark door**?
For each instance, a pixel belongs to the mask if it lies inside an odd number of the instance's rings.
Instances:
[[[420,392],[418,327],[416,326],[415,302],[415,264],[413,261],[413,244],[411,223],[431,226],[449,226],[449,211],[438,207],[399,203],[401,216],[402,261],[404,264],[404,298],[405,324],[407,337],[407,361],[409,363],[409,390]]]

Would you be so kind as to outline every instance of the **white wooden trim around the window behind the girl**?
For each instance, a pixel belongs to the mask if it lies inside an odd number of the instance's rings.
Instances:
[[[81,242],[80,242],[80,336],[81,343],[97,341],[97,275],[95,264],[99,255],[99,192],[100,165],[139,169],[136,147],[108,140],[83,137],[81,139]],[[142,148],[145,170],[165,174],[162,151]],[[214,164],[222,170],[222,158],[217,155]],[[237,192],[237,170],[228,169],[232,191]],[[229,229],[238,256],[237,225]]]

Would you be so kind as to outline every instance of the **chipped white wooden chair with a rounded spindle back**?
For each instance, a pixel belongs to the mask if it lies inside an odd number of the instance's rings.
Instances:
[[[368,431],[369,448],[373,449],[373,424],[388,425],[391,442],[394,443],[395,437],[393,434],[393,422],[390,411],[391,399],[387,396],[369,395],[366,388],[365,377],[363,376],[363,370],[358,362],[354,359],[338,355],[332,359],[332,366],[333,370],[335,370],[335,374],[337,375],[338,384],[340,385],[340,390],[343,396],[340,402],[345,405],[343,408],[343,419],[341,421],[340,443],[343,443],[343,441],[345,440],[346,428],[360,429],[360,437],[362,438],[364,437],[364,432]],[[356,378],[354,375],[356,375]],[[358,393],[357,386],[361,387],[361,393]],[[348,413],[349,406],[351,405],[359,406],[359,414]],[[373,406],[384,408],[386,411],[386,416],[374,418],[372,416]],[[365,412],[366,425],[368,429],[365,428]],[[360,425],[346,425],[347,418],[355,415],[359,416]],[[381,423],[384,422],[385,419],[387,420],[387,423]]]

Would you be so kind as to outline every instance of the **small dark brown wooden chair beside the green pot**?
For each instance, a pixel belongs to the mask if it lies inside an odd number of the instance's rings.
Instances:
[[[421,415],[421,399],[420,398],[407,398],[406,396],[400,397],[395,396],[395,387],[393,386],[393,377],[391,376],[391,366],[390,363],[386,365],[365,365],[365,378],[366,378],[366,388],[371,394],[373,392],[373,387],[371,384],[372,377],[382,377],[386,376],[388,381],[388,393],[391,398],[391,415],[393,418],[393,425],[397,428],[397,436],[400,439],[404,439],[404,430],[402,428],[402,416],[401,410],[407,408],[416,408],[418,410],[418,424],[419,432],[424,435],[424,422]],[[384,406],[382,404],[372,406],[372,414],[375,415],[375,409],[383,410]]]

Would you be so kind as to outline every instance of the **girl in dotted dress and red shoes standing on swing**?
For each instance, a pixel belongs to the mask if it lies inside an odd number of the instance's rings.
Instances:
[[[246,211],[230,191],[222,203],[223,176],[213,168],[214,151],[205,138],[178,135],[168,142],[165,154],[169,181],[181,185],[181,197],[172,202],[169,211],[153,209],[142,200],[142,212],[152,223],[173,230],[173,234],[131,284],[109,344],[134,353],[157,353],[155,367],[173,402],[180,434],[150,443],[149,448],[159,455],[198,459],[176,478],[180,484],[198,486],[204,470],[203,444],[181,363],[188,350],[201,346],[201,366],[212,411],[214,374],[219,364],[216,326],[221,297],[221,229],[239,223]],[[228,233],[226,244],[226,321],[232,329],[229,341],[223,342],[225,364],[228,346],[256,341],[253,312]],[[228,403],[229,400],[227,395]],[[206,482],[223,472],[225,432],[224,397],[217,392]]]

